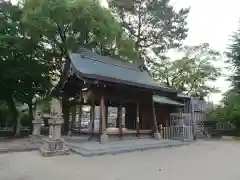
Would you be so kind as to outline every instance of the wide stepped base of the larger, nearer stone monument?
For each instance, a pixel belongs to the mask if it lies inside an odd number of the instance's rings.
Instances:
[[[42,156],[68,155],[69,148],[63,140],[44,140],[43,147],[40,148]]]

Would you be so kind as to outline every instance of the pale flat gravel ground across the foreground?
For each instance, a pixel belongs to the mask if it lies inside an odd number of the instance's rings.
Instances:
[[[240,141],[84,158],[0,155],[1,180],[239,180]]]

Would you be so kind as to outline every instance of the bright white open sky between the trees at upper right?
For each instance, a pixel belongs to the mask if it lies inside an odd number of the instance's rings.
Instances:
[[[172,0],[176,8],[190,7],[188,16],[188,37],[186,45],[209,43],[210,46],[220,52],[226,51],[231,43],[230,36],[239,27],[240,1],[239,0]],[[217,64],[222,72],[229,74],[224,67],[224,59]],[[220,77],[214,86],[222,93],[229,88],[230,83],[225,77]],[[222,93],[211,94],[209,99],[217,103],[222,98]]]

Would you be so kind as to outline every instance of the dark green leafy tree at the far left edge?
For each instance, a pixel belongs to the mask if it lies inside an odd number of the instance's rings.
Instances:
[[[48,68],[42,61],[46,58],[44,51],[37,39],[27,34],[21,17],[19,5],[0,3],[0,99],[7,103],[13,114],[16,135],[20,132],[20,123],[16,122],[17,119],[20,121],[17,101],[30,106],[29,115],[33,119],[33,97],[45,92],[51,84]]]

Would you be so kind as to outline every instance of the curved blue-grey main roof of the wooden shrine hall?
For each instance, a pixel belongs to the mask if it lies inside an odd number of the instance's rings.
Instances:
[[[176,92],[171,87],[154,82],[146,70],[136,65],[101,56],[90,50],[82,49],[82,52],[70,53],[70,59],[73,72],[78,76],[91,79],[101,77],[109,82]]]

